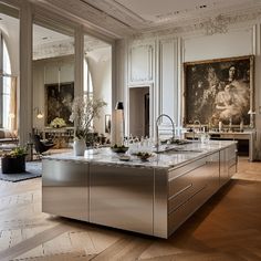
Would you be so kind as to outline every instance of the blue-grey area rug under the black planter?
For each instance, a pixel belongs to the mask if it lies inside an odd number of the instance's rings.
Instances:
[[[25,163],[25,173],[20,174],[2,174],[0,168],[0,179],[4,181],[21,181],[30,178],[38,178],[42,176],[42,161],[28,161]]]

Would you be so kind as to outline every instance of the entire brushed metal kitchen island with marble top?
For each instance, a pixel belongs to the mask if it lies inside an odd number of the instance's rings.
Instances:
[[[237,143],[174,146],[148,161],[109,148],[43,158],[44,212],[168,238],[237,171]]]

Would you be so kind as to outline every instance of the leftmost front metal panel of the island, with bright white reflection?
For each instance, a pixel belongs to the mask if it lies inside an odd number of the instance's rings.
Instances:
[[[43,159],[42,211],[88,221],[88,165]]]

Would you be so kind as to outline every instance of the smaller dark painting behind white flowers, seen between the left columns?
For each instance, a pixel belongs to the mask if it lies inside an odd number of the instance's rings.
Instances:
[[[69,121],[72,114],[72,103],[74,100],[74,83],[45,84],[45,125],[55,118],[63,118],[67,126],[73,126]]]

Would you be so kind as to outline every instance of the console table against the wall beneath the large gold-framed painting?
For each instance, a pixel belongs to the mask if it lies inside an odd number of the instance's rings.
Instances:
[[[243,153],[242,147],[248,144],[248,156],[249,160],[254,160],[254,130],[246,130],[246,132],[209,132],[210,139],[223,139],[223,140],[237,140],[238,142],[238,150],[239,155]],[[198,139],[199,133],[187,132],[185,133],[185,138],[187,139]]]

